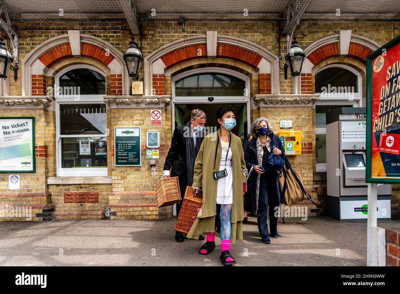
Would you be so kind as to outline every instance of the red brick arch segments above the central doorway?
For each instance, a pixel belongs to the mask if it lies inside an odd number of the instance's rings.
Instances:
[[[186,60],[204,57],[207,57],[207,45],[199,44],[176,49],[162,56],[161,60],[162,62],[164,62],[167,68],[170,68],[171,66],[174,66]],[[254,52],[240,48],[238,46],[226,44],[217,45],[216,57],[238,60],[253,68],[257,68],[262,59],[260,55]]]

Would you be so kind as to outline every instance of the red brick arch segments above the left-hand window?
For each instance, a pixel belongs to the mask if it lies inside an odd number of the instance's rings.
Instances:
[[[94,58],[106,66],[108,66],[108,64],[110,64],[110,62],[112,62],[114,59],[114,56],[112,56],[109,52],[106,52],[106,50],[86,43],[81,44],[81,56]],[[51,68],[60,60],[72,57],[74,56],[72,56],[71,46],[68,43],[56,46],[44,52],[44,54],[39,57],[39,60],[42,62],[42,64],[44,64],[44,66],[46,66],[46,68]]]

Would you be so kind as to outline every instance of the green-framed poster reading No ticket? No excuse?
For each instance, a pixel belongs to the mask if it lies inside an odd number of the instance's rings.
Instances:
[[[0,117],[0,130],[0,173],[34,173],[35,117]]]

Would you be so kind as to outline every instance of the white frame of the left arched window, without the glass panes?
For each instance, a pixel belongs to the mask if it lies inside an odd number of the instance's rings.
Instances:
[[[64,70],[60,71],[54,77],[54,81],[58,84],[58,81],[62,75],[70,70],[76,68],[88,68],[91,70],[95,70],[99,74],[104,75],[106,74],[99,70],[98,68],[86,64],[76,64],[74,66],[70,66],[65,68]],[[66,95],[58,95],[58,91],[54,91],[54,97],[56,101],[56,169],[57,169],[57,177],[99,177],[99,176],[107,176],[108,167],[80,167],[80,168],[62,168],[62,154],[61,154],[61,138],[83,138],[83,137],[107,137],[107,134],[101,135],[60,135],[60,104],[98,104],[104,103],[104,96],[107,93],[100,94],[100,95],[80,95],[78,101],[71,101],[71,97]],[[107,111],[107,110],[106,110]]]

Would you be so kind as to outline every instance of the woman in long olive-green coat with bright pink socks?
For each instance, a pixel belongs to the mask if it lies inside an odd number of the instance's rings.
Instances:
[[[217,121],[220,129],[204,138],[194,163],[192,187],[196,191],[202,190],[204,203],[186,237],[198,239],[202,232],[206,232],[207,242],[200,248],[199,254],[207,255],[212,252],[215,248],[216,205],[220,205],[220,259],[222,264],[232,265],[236,262],[229,252],[230,242],[243,239],[243,183],[246,180],[246,163],[242,141],[230,131],[236,125],[234,109],[219,107]],[[222,175],[215,177],[214,171],[221,171]]]

